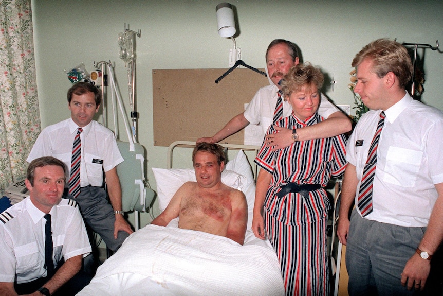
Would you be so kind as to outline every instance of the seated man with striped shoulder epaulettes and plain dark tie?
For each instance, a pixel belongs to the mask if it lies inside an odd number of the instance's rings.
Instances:
[[[74,295],[90,280],[85,281],[84,275],[73,278],[91,247],[77,203],[61,198],[65,178],[60,160],[43,157],[32,161],[25,181],[30,196],[0,214],[0,295],[49,295],[71,278],[69,288],[59,292]],[[45,255],[49,251],[52,255]]]

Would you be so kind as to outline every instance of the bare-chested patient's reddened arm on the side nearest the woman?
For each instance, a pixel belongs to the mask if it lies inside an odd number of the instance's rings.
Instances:
[[[226,237],[243,245],[248,223],[248,203],[242,191],[235,190],[231,198],[231,219]]]

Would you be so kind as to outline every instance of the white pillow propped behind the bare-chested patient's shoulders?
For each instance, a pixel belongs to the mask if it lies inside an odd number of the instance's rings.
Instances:
[[[194,169],[152,168],[157,183],[157,198],[163,212],[178,188],[188,181],[196,182]],[[229,161],[222,172],[222,182],[234,189],[243,191],[248,202],[248,229],[252,226],[252,210],[255,199],[255,181],[251,166],[243,150]]]

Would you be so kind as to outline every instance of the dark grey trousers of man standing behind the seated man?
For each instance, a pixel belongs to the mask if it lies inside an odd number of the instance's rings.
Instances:
[[[116,252],[129,236],[127,232],[119,231],[117,239],[114,239],[114,210],[107,201],[106,191],[103,188],[82,187],[77,198],[74,199],[70,195],[64,195],[64,197],[73,199],[79,204],[85,222],[100,235],[106,246],[113,252]]]

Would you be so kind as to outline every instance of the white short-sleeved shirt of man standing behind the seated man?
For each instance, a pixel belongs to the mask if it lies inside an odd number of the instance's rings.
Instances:
[[[70,171],[72,145],[77,129],[78,126],[71,118],[46,127],[35,141],[26,161],[31,162],[41,156],[53,156],[63,161]],[[93,120],[83,127],[80,140],[82,142],[80,186],[102,186],[102,169],[106,172],[124,161],[115,135],[111,130]]]

